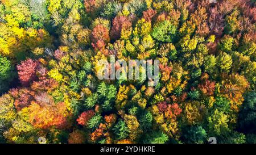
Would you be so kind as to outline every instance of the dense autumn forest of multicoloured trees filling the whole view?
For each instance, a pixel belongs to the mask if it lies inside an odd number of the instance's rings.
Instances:
[[[255,2],[0,0],[0,143],[256,144]]]

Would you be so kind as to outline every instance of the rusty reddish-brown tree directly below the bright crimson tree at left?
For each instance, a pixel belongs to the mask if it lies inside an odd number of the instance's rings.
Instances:
[[[28,90],[26,88],[12,89],[10,93],[15,99],[14,106],[18,111],[22,110],[24,107],[30,106],[31,101],[34,100],[35,95],[34,91]]]

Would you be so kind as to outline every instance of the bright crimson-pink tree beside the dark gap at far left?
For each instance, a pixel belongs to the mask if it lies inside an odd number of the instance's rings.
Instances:
[[[28,86],[30,82],[36,80],[36,70],[39,69],[39,62],[29,58],[26,61],[22,61],[17,66],[19,80],[23,86]]]

